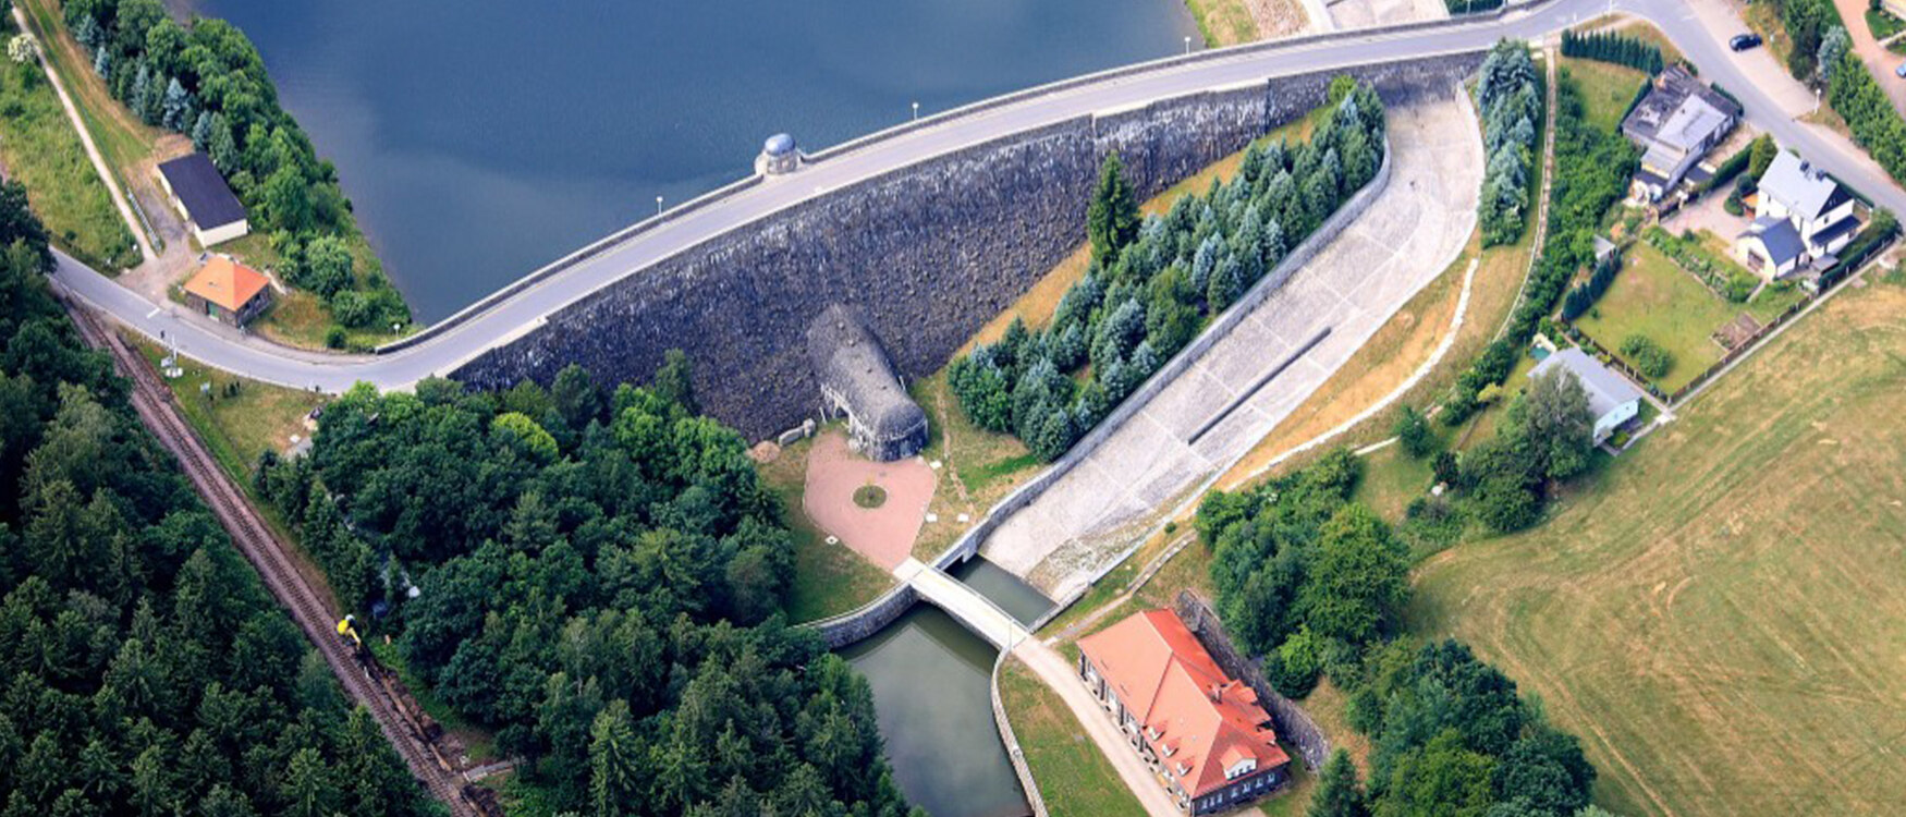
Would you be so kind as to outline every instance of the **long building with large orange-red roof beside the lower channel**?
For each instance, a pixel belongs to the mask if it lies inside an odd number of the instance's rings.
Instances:
[[[1079,676],[1191,815],[1269,794],[1290,756],[1250,686],[1229,678],[1170,609],[1079,640]]]

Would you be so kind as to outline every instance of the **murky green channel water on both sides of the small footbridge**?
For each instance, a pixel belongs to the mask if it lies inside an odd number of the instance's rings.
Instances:
[[[1052,602],[1012,573],[974,558],[953,577],[1022,623]],[[934,817],[1020,817],[1020,779],[993,724],[991,644],[930,604],[841,651],[873,686],[894,781]]]

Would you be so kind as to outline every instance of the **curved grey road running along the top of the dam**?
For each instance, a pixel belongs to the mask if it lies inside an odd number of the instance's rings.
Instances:
[[[1536,38],[1609,10],[1637,13],[1653,21],[1691,61],[1700,65],[1704,78],[1719,82],[1740,99],[1750,122],[1853,183],[1877,204],[1906,213],[1906,192],[1895,187],[1870,158],[1847,145],[1845,139],[1826,137],[1794,122],[1792,112],[1774,103],[1761,82],[1792,80],[1784,74],[1763,76],[1765,70],[1754,63],[1754,59],[1765,61],[1763,53],[1731,53],[1721,44],[1721,36],[1727,32],[1702,25],[1693,6],[1717,2],[1721,0],[1542,0],[1502,17],[1490,15],[1468,23],[1370,29],[1349,36],[1327,34],[1165,59],[1136,70],[1115,70],[1083,82],[1058,84],[1004,105],[985,107],[982,103],[942,114],[921,126],[903,128],[884,139],[848,147],[837,156],[804,166],[799,173],[768,179],[707,208],[663,215],[650,229],[522,288],[522,291],[436,333],[436,337],[379,356],[320,354],[267,345],[210,326],[206,320],[181,316],[183,307],[147,301],[67,257],[59,259],[53,278],[67,291],[133,329],[172,343],[183,354],[219,369],[326,392],[341,392],[358,381],[379,389],[406,389],[423,377],[457,369],[482,350],[537,328],[545,316],[656,261],[825,190],[848,187],[932,156],[1075,116],[1138,107],[1269,76],[1473,51],[1506,36]]]

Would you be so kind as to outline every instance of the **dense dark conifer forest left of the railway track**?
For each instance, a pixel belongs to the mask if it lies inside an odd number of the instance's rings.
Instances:
[[[427,815],[273,604],[0,185],[0,815]]]

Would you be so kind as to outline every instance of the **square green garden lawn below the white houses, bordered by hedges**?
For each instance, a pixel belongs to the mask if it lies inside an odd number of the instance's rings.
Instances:
[[[1664,392],[1685,387],[1721,360],[1710,337],[1742,312],[1649,244],[1628,248],[1626,265],[1601,301],[1574,324],[1609,352],[1620,354],[1628,335],[1645,335],[1673,354],[1673,368],[1656,381]]]

